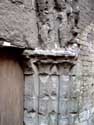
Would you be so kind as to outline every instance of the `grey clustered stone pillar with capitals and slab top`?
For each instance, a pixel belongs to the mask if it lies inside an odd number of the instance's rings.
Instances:
[[[25,72],[25,125],[73,125],[78,113],[77,101],[71,98],[70,72],[75,55],[45,50],[29,54],[30,70]]]

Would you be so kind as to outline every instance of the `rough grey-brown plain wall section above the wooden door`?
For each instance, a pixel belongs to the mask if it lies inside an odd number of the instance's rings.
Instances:
[[[36,21],[32,0],[0,0],[0,45],[37,47]]]

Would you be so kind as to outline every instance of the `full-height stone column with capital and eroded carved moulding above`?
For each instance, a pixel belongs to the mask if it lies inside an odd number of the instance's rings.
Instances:
[[[36,0],[36,9],[40,46],[24,53],[32,70],[25,72],[24,123],[73,125],[78,97],[71,96],[71,69],[80,51],[79,3]]]

